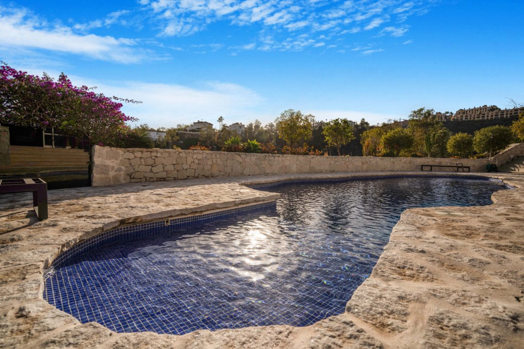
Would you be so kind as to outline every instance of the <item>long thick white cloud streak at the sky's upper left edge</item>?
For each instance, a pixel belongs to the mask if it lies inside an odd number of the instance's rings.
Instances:
[[[44,49],[95,59],[135,63],[143,59],[132,39],[79,35],[69,27],[49,27],[25,9],[0,8],[0,46]]]

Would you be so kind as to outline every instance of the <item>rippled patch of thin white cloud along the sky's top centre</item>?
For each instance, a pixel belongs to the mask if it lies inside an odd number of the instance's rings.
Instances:
[[[329,37],[351,36],[365,31],[375,35],[402,36],[407,25],[379,28],[386,22],[399,24],[409,16],[427,12],[435,0],[141,0],[143,9],[158,21],[161,36],[188,36],[216,21],[253,26],[269,33],[271,44],[258,42],[259,50],[315,47],[303,44],[303,34],[325,32]],[[287,33],[286,33],[287,32]],[[290,45],[290,41],[301,42]]]

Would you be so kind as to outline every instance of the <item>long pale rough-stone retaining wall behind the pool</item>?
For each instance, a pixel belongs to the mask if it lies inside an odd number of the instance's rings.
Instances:
[[[261,174],[420,171],[420,165],[461,162],[472,172],[484,172],[488,160],[417,157],[313,156],[227,153],[198,150],[93,149],[93,186],[129,182]],[[451,171],[451,168],[434,168]]]

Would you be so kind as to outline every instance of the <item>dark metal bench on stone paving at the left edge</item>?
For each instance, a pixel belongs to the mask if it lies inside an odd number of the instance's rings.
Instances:
[[[0,194],[33,193],[33,207],[39,220],[47,219],[47,183],[40,178],[0,179]]]

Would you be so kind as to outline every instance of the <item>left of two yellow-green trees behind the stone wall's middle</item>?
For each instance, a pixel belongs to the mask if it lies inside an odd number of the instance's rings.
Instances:
[[[307,140],[312,134],[312,115],[302,115],[300,110],[288,109],[283,111],[275,120],[278,137],[286,141],[291,149],[302,140]]]

